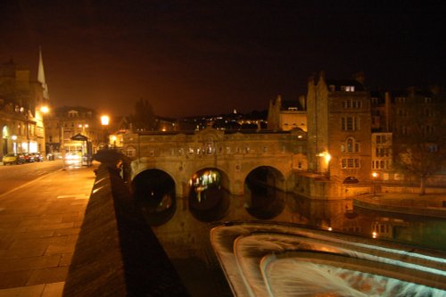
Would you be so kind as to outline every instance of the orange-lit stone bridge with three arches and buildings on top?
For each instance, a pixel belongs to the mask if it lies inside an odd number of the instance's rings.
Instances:
[[[146,170],[161,170],[173,179],[178,197],[188,195],[191,178],[205,169],[219,171],[230,194],[244,194],[246,177],[260,168],[274,179],[269,186],[289,191],[293,171],[307,167],[305,138],[302,131],[140,132],[124,136],[124,153],[133,160],[132,180]]]

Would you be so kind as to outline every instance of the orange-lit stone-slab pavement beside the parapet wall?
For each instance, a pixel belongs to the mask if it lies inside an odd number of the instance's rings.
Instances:
[[[96,166],[67,167],[0,195],[0,297],[62,296]]]

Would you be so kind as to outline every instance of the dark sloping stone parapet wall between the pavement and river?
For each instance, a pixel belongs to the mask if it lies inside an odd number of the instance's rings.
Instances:
[[[96,174],[63,296],[187,296],[119,170]]]

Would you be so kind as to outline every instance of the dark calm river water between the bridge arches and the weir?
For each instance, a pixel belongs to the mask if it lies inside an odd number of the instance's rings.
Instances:
[[[232,295],[209,239],[212,227],[223,221],[293,223],[446,252],[445,219],[359,209],[351,200],[314,200],[272,188],[245,192],[236,196],[213,188],[177,199],[168,203],[167,219],[153,226],[192,296]],[[155,212],[146,211],[149,221],[162,217],[162,210]]]

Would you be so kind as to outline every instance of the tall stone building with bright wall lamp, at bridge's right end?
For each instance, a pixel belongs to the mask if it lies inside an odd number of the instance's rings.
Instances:
[[[370,96],[360,78],[310,78],[307,94],[308,162],[337,183],[371,180]]]

